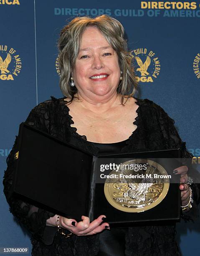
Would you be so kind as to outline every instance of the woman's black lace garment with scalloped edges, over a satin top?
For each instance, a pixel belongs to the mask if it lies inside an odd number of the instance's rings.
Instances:
[[[72,128],[73,120],[64,98],[45,101],[30,112],[26,123],[45,131],[59,139],[74,143],[91,154],[98,154],[99,148],[86,140],[86,136],[76,133]],[[167,113],[150,100],[137,99],[137,118],[134,124],[137,129],[125,142],[121,152],[152,151],[177,148],[182,141],[174,127],[174,120]],[[83,117],[80,117],[83,118]],[[120,128],[119,128],[120,129]],[[71,236],[66,239],[56,230],[56,227],[46,226],[46,220],[55,213],[22,202],[11,192],[13,173],[15,172],[14,155],[17,151],[18,138],[16,137],[13,150],[7,158],[8,168],[4,175],[4,193],[10,212],[31,233],[33,244],[32,255],[52,256],[93,256],[99,253],[99,234],[93,236]],[[183,148],[182,157],[192,157]],[[27,170],[28,171],[28,170]],[[190,173],[190,172],[189,172]],[[191,176],[191,175],[190,175]],[[45,184],[44,184],[45,187]],[[197,204],[199,202],[199,186],[192,185],[194,204],[189,212],[182,214],[182,218],[192,221],[197,218]],[[180,255],[176,242],[175,225],[133,226],[127,228],[125,237],[125,254],[128,256],[175,256]]]

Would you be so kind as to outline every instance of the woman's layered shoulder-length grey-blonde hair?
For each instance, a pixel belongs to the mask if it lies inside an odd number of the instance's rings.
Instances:
[[[127,50],[127,41],[124,39],[122,24],[107,15],[90,17],[77,17],[71,20],[60,32],[58,39],[58,66],[61,73],[60,87],[63,95],[72,102],[77,92],[76,86],[70,86],[71,76],[76,64],[76,59],[81,46],[81,38],[85,29],[95,26],[106,38],[110,46],[116,51],[119,59],[119,67],[122,71],[122,81],[119,82],[117,92],[124,97],[132,97],[137,89],[134,68],[132,66],[132,54]]]

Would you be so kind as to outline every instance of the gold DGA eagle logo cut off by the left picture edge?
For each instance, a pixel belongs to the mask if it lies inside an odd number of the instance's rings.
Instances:
[[[14,80],[21,71],[22,63],[15,49],[0,45],[0,80]]]

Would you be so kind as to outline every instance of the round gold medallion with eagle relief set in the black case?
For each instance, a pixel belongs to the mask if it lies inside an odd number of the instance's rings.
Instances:
[[[110,172],[109,177],[114,178],[106,179],[104,184],[106,199],[113,207],[123,212],[144,212],[165,198],[170,179],[160,164],[149,159],[134,159],[122,166],[118,172]],[[136,166],[142,169],[136,171]]]

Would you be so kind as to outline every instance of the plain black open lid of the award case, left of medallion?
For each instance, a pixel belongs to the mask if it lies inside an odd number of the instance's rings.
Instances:
[[[91,154],[25,123],[20,124],[18,151],[13,182],[18,196],[66,217],[73,210],[74,218],[87,214]]]

